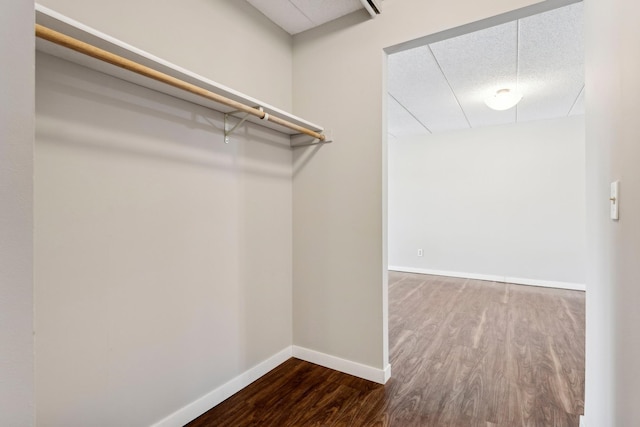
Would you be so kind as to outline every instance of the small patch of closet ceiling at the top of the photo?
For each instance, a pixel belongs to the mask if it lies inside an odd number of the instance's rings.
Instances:
[[[360,0],[247,1],[291,35],[364,8]]]

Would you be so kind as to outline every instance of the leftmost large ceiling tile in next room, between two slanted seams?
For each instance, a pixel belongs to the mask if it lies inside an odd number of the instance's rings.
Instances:
[[[388,91],[432,132],[469,125],[429,46],[389,55]]]

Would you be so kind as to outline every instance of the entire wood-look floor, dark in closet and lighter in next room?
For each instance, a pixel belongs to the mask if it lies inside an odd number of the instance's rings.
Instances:
[[[385,386],[290,359],[188,426],[578,427],[584,300],[391,272]]]

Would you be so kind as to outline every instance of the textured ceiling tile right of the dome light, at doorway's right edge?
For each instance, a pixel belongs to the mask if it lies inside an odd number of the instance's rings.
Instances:
[[[565,117],[584,85],[583,4],[520,20],[518,120]]]

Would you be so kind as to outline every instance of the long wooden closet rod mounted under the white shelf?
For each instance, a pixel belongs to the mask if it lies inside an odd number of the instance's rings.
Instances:
[[[145,65],[138,64],[137,62],[131,61],[127,58],[123,58],[122,56],[118,56],[111,52],[107,52],[106,50],[100,49],[99,47],[74,39],[73,37],[69,37],[65,34],[59,33],[57,31],[54,31],[40,24],[36,24],[36,37],[39,37],[44,40],[48,40],[52,43],[58,44],[60,46],[64,46],[68,49],[75,50],[76,52],[80,52],[84,55],[91,56],[93,58],[99,59],[100,61],[108,62],[109,64],[115,65],[116,67],[124,68],[125,70],[132,71],[134,73],[140,74],[150,79],[154,79],[159,82],[176,87],[178,89],[182,89],[184,91],[193,93],[195,95],[201,96],[211,101],[215,101],[219,104],[226,105],[237,111],[241,111],[241,112],[250,114],[252,116],[256,116],[263,120],[265,119],[269,120],[270,122],[276,123],[280,126],[284,126],[296,132],[303,133],[305,135],[309,135],[313,138],[319,139],[320,141],[324,141],[326,139],[326,136],[321,133],[312,131],[311,129],[307,129],[295,123],[291,123],[290,121],[281,119],[280,117],[267,114],[264,111],[259,110],[258,108],[253,108],[241,102],[234,101],[233,99],[229,99],[226,96],[218,95],[217,93],[203,89],[194,84],[185,82],[184,80],[177,79],[168,74],[154,70],[153,68],[149,68]]]

